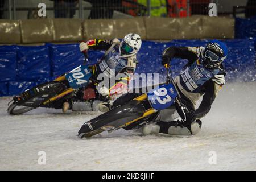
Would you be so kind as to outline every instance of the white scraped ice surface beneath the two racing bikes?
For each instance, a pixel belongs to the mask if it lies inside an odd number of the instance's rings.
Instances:
[[[81,125],[97,114],[36,109],[10,116],[9,100],[0,98],[1,170],[256,170],[256,82],[226,84],[194,137],[118,130],[79,139]],[[38,164],[39,151],[46,165]],[[212,151],[216,164],[209,163]]]

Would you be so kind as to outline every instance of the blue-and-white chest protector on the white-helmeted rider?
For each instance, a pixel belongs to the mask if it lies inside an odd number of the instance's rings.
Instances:
[[[109,78],[117,75],[127,66],[127,59],[119,57],[118,46],[115,46],[107,55],[96,65],[97,75],[104,73]]]

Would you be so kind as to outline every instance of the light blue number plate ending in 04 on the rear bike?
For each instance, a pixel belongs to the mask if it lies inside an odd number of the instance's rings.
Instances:
[[[69,82],[69,86],[73,89],[79,89],[89,84],[89,79],[92,76],[90,69],[86,65],[80,65],[65,75]]]

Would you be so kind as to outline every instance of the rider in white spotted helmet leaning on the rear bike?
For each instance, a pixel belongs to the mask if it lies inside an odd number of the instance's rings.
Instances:
[[[142,40],[138,34],[127,34],[121,41],[116,38],[113,40],[92,39],[79,44],[80,51],[85,54],[88,49],[106,51],[101,60],[90,67],[94,80],[97,80],[98,75],[101,73],[108,78],[116,76],[118,73],[125,74],[125,77],[122,77],[119,81],[115,81],[114,85],[98,88],[98,93],[102,97],[114,99],[118,94],[122,94],[127,89],[126,84],[135,71],[137,64],[136,53],[141,48],[141,44]],[[89,92],[89,90],[85,90],[84,92]],[[97,108],[100,111],[109,110],[106,102],[94,103],[97,103]],[[84,108],[87,106],[90,107],[89,110],[93,109],[91,104],[81,104],[82,102],[73,103],[72,100],[67,100],[63,103],[63,112],[65,113],[68,109],[88,110],[88,108]]]

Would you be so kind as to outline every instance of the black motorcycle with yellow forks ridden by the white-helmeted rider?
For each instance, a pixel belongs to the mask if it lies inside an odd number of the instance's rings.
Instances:
[[[87,61],[88,57],[85,55],[85,63]],[[90,68],[85,63],[53,81],[39,84],[14,96],[8,104],[8,113],[19,115],[38,107],[56,108],[56,105],[62,105],[68,98],[81,95],[81,90],[85,93],[86,89],[93,93],[86,100],[96,98],[94,85],[98,82],[93,80]]]

